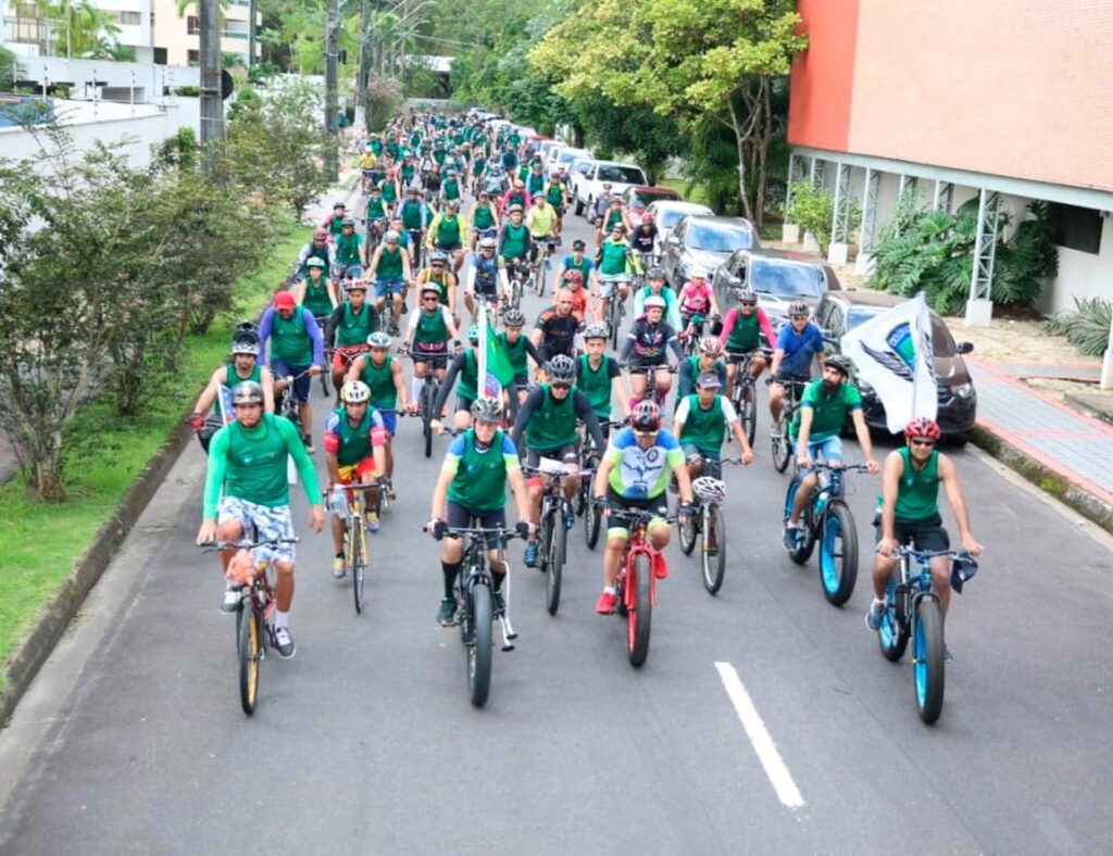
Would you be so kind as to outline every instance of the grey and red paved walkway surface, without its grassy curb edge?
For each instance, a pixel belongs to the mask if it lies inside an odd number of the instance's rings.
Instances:
[[[1113,426],[1045,396],[997,365],[967,360],[978,424],[1113,504]]]

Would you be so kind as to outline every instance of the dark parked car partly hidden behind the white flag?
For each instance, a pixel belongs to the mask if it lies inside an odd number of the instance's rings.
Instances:
[[[829,290],[816,302],[812,317],[823,330],[830,352],[841,351],[843,335],[870,318],[903,303],[907,298],[867,289]],[[963,355],[974,350],[968,341],[956,342],[943,319],[932,312],[932,346],[935,349],[936,396],[939,410],[935,420],[944,438],[963,444],[977,417],[977,390]],[[888,434],[885,406],[874,388],[858,380],[866,425]]]

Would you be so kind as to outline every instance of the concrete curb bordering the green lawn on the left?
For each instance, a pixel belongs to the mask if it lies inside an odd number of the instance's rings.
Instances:
[[[16,709],[39,668],[81,608],[89,590],[100,579],[193,436],[187,422],[179,422],[170,430],[166,441],[124,492],[116,514],[97,531],[88,549],[75,563],[73,571],[59,585],[53,599],[40,613],[31,633],[4,664],[8,686],[0,694],[0,725]]]

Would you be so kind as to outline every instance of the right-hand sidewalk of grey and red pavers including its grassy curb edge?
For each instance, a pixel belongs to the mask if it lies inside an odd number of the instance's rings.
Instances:
[[[1113,531],[1113,426],[1012,377],[1040,374],[1034,366],[966,365],[978,396],[975,442]]]

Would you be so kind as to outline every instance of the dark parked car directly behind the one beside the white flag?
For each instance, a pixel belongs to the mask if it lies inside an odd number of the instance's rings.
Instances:
[[[823,259],[806,252],[747,248],[735,251],[711,277],[716,298],[733,306],[735,292],[749,287],[757,292],[777,329],[788,320],[788,305],[800,299],[809,307],[831,289],[841,289],[838,275]]]

